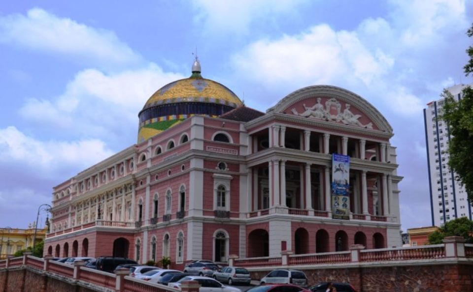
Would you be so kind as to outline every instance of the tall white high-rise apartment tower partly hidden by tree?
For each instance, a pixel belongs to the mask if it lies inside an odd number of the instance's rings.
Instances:
[[[468,85],[455,85],[447,90],[456,100],[462,98],[462,89]],[[448,143],[451,136],[448,125],[439,116],[444,99],[431,101],[424,109],[425,142],[429,167],[430,205],[432,225],[440,226],[460,217],[472,219],[472,207],[467,192],[455,181],[455,174],[448,167]]]

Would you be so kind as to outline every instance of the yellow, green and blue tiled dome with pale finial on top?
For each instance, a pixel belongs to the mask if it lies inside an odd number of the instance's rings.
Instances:
[[[148,99],[139,112],[138,143],[194,115],[218,117],[242,105],[229,88],[202,78],[195,60],[192,76],[165,85]]]

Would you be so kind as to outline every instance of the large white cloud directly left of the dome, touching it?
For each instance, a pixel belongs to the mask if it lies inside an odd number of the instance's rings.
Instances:
[[[20,114],[26,120],[70,129],[77,135],[117,135],[124,127],[137,129],[137,114],[151,94],[182,78],[163,72],[155,64],[114,74],[85,69],[76,74],[61,96],[52,101],[29,99]]]

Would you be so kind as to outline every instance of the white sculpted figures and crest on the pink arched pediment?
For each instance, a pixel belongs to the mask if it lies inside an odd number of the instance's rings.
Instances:
[[[317,103],[311,107],[304,104],[304,112],[299,113],[295,108],[291,112],[296,116],[310,117],[315,119],[322,119],[328,121],[342,122],[345,125],[357,125],[363,128],[372,129],[372,123],[366,125],[362,124],[358,119],[361,115],[355,115],[350,111],[350,105],[345,104],[345,110],[341,112],[341,104],[337,99],[331,98],[325,102],[325,108],[321,103],[321,98],[317,98]]]

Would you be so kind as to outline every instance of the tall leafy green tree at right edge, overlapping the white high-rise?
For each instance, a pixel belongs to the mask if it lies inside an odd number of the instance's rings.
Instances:
[[[467,35],[473,36],[472,28]],[[473,73],[473,46],[467,49],[470,57],[463,67],[466,76]],[[463,89],[463,97],[455,101],[453,96],[444,90],[445,105],[441,118],[447,123],[450,135],[448,166],[455,172],[455,179],[465,186],[470,204],[473,202],[473,88]]]

